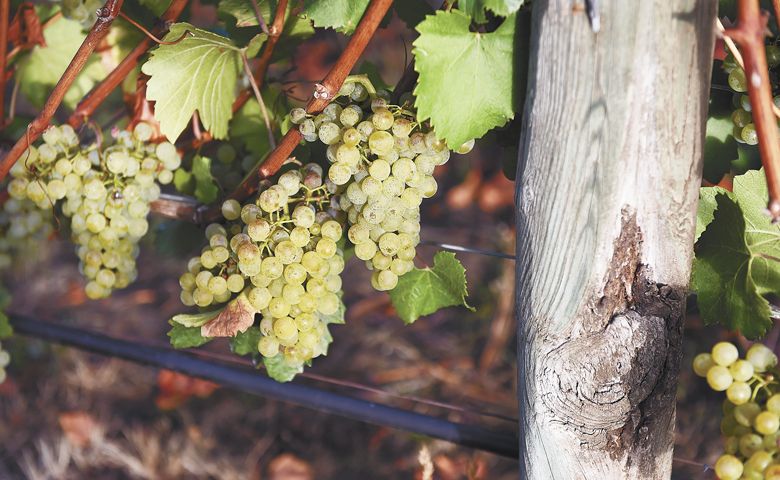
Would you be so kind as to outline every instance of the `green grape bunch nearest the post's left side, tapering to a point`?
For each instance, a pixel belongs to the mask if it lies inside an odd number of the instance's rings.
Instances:
[[[434,168],[450,158],[446,144],[417,123],[410,109],[369,95],[360,83],[346,83],[321,114],[290,112],[305,140],[328,146],[328,179],[340,187],[347,236],[380,291],[395,288],[414,268],[420,204],[438,188]],[[472,146],[473,141],[460,153]]]

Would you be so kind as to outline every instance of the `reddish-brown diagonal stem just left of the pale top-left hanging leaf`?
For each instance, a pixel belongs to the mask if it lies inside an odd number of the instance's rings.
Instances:
[[[173,0],[168,9],[160,17],[160,26],[154,30],[157,36],[163,36],[168,31],[168,25],[176,21],[187,5],[188,0]],[[89,92],[84,99],[79,102],[76,110],[68,118],[68,123],[73,128],[80,127],[84,120],[89,118],[92,113],[102,104],[114,89],[122,83],[130,72],[138,64],[138,59],[152,47],[152,40],[144,37],[138,45],[122,60],[122,62],[108,74],[95,88]]]

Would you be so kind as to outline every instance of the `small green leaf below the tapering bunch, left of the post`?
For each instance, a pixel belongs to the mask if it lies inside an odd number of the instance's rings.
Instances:
[[[390,300],[401,320],[410,324],[444,307],[463,305],[473,310],[466,295],[466,269],[454,254],[438,252],[433,268],[415,268],[399,278]]]

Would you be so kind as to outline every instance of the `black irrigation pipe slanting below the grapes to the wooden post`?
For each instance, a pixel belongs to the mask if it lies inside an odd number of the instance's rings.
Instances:
[[[328,414],[427,435],[504,457],[518,458],[519,446],[516,433],[499,432],[477,425],[450,422],[430,415],[326,392],[305,385],[277,383],[246,368],[213,363],[186,352],[138,345],[52,322],[13,315],[11,324],[17,333],[30,337],[175,370],[230,388]]]

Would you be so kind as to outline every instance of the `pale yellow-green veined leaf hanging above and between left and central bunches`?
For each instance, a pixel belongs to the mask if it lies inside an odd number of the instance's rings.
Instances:
[[[165,40],[178,39],[185,31],[191,35],[174,45],[158,46],[141,68],[151,77],[146,96],[155,102],[154,118],[174,142],[197,110],[212,136],[225,138],[233,116],[241,50],[229,39],[188,23],[173,24]]]

